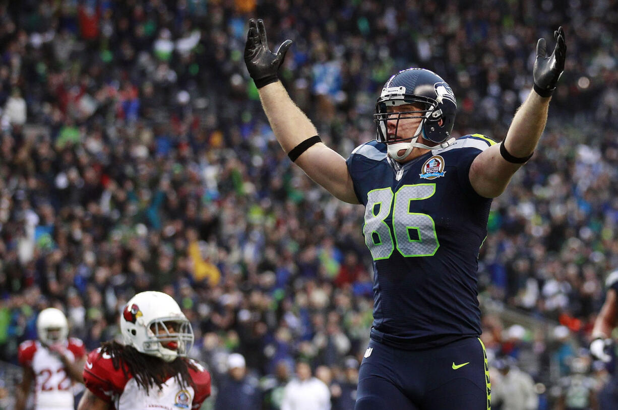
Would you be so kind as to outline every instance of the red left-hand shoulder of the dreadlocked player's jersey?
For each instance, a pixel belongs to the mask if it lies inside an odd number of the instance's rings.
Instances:
[[[91,351],[83,365],[84,384],[104,401],[110,402],[120,395],[129,379],[122,369],[114,369],[111,356],[101,353],[101,348]]]

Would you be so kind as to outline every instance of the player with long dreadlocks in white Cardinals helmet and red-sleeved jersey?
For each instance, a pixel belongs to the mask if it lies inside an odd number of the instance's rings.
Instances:
[[[165,293],[130,299],[121,316],[124,344],[108,341],[83,367],[87,391],[78,410],[197,409],[210,396],[210,374],[187,359],[191,324]]]

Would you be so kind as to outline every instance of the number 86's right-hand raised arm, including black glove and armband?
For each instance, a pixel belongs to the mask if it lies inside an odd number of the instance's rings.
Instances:
[[[543,133],[551,94],[564,70],[567,46],[562,27],[554,31],[554,39],[556,46],[549,57],[544,38],[538,41],[534,90],[515,113],[506,138],[472,162],[470,183],[481,196],[495,198],[504,191],[515,171],[530,159]]]

